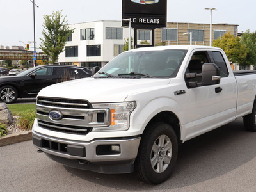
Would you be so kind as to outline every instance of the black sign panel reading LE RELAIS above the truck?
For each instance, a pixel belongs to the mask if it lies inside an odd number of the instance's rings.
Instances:
[[[131,18],[134,29],[166,27],[166,0],[122,0],[122,19]],[[122,21],[122,26],[128,26]]]

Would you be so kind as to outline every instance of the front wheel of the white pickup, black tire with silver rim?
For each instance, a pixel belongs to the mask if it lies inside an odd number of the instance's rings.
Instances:
[[[141,137],[134,173],[143,182],[159,184],[172,173],[178,155],[178,141],[171,125],[154,122],[148,126]]]

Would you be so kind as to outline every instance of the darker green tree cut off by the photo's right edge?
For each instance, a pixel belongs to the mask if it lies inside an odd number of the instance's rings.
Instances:
[[[256,65],[256,33],[250,33],[249,30],[242,33],[241,41],[248,48],[248,53],[244,64]]]

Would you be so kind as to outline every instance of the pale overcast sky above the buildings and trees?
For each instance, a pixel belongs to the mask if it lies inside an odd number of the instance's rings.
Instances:
[[[33,1],[35,6],[36,47],[42,38],[44,15],[61,11],[68,24],[97,20],[121,20],[122,0],[0,0],[0,45],[25,46],[34,40]],[[161,1],[161,0],[160,0]],[[238,31],[255,32],[255,0],[167,0],[167,22],[226,23],[239,25]],[[32,44],[31,44],[32,45]]]

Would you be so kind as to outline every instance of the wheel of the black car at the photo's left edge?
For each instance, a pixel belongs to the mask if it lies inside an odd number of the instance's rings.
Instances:
[[[13,86],[3,86],[0,88],[0,100],[6,104],[13,103],[18,98],[18,92]]]

